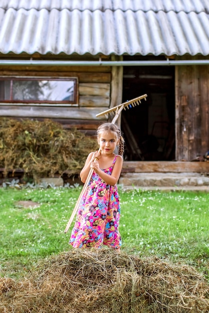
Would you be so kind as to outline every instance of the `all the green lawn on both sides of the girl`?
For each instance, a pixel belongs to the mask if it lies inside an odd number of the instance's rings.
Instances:
[[[39,260],[71,248],[73,225],[64,230],[80,192],[81,187],[0,188],[2,276],[22,276]],[[119,188],[119,194],[121,250],[192,265],[209,277],[208,193]],[[40,206],[24,208],[19,200]]]

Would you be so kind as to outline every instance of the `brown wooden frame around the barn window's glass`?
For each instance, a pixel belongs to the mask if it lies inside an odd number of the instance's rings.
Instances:
[[[53,101],[53,100],[16,100],[16,99],[6,99],[1,100],[1,104],[9,104],[12,105],[50,105],[50,106],[79,106],[78,102],[78,77],[75,76],[59,76],[59,77],[52,77],[52,76],[0,76],[0,81],[12,81],[12,80],[60,80],[60,81],[74,81],[74,99],[73,100],[62,100],[62,101]],[[11,93],[11,89],[10,89]]]

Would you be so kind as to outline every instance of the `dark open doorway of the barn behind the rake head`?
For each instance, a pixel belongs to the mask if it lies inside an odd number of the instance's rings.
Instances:
[[[125,160],[174,160],[174,66],[124,66],[123,102],[142,94],[147,100],[122,111]]]

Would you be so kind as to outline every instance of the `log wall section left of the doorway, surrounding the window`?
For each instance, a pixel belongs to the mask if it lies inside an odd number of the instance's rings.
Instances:
[[[113,60],[120,59],[117,56]],[[92,59],[89,59],[92,60]],[[1,76],[77,77],[78,107],[59,105],[33,105],[0,103],[0,116],[11,118],[51,118],[65,128],[76,127],[87,134],[94,134],[106,117],[96,114],[121,103],[122,66],[4,66]]]

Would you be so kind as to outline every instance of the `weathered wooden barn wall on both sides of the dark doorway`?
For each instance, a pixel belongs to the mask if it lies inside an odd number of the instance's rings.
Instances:
[[[121,60],[122,56],[112,56],[111,59]],[[98,124],[106,120],[105,117],[96,117],[96,114],[122,102],[122,66],[1,65],[0,75],[77,77],[79,92],[78,107],[0,103],[0,116],[38,120],[51,118],[66,128],[76,127],[87,134],[95,134]],[[209,150],[208,81],[209,66],[175,66],[176,160],[190,161]]]

